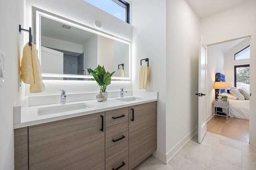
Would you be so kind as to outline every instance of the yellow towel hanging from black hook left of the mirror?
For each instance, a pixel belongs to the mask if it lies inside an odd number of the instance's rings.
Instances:
[[[22,81],[30,84],[30,93],[40,93],[45,90],[37,53],[38,51],[33,43],[31,43],[31,47],[26,43],[23,48],[20,71]]]

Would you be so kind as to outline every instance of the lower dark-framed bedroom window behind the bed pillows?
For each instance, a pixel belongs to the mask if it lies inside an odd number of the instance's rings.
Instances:
[[[235,87],[250,90],[250,64],[235,66]]]

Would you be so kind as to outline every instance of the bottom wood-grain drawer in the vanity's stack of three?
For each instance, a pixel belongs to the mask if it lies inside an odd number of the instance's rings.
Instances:
[[[113,168],[117,169],[118,167],[120,167],[119,170],[128,170],[128,147],[106,158],[105,170],[113,170]]]

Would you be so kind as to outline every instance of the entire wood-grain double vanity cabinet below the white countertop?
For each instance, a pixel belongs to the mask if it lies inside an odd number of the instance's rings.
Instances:
[[[156,150],[157,102],[14,129],[24,170],[131,170]]]

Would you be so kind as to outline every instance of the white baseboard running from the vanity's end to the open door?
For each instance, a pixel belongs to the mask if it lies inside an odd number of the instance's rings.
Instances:
[[[186,135],[180,142],[178,142],[167,154],[161,152],[160,150],[156,150],[153,153],[153,156],[158,160],[163,162],[164,164],[168,164],[174,156],[198,133],[198,127],[194,128],[188,135]]]

